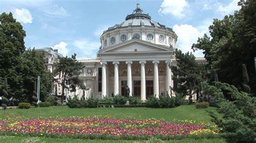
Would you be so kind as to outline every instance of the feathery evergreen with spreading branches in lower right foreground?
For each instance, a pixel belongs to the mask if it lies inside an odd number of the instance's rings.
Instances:
[[[233,85],[220,82],[216,82],[215,87],[204,84],[203,91],[220,101],[218,112],[221,118],[212,111],[208,112],[228,142],[255,142],[255,98],[238,91]]]

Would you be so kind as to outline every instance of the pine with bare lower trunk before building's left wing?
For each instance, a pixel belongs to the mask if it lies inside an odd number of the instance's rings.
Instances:
[[[55,63],[54,73],[57,75],[62,74],[62,103],[64,102],[64,91],[65,89],[75,91],[76,87],[79,86],[84,89],[84,85],[78,76],[82,73],[84,68],[83,63],[76,60],[76,54],[73,54],[71,58],[68,56],[58,57],[58,61]]]

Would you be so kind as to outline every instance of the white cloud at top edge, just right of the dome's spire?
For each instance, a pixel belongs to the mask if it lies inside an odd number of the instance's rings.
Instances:
[[[158,10],[158,13],[164,15],[171,15],[177,18],[185,17],[185,9],[187,8],[188,3],[186,0],[164,0],[161,3],[161,7]]]

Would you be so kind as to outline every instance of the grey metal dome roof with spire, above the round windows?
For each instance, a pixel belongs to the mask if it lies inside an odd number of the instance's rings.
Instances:
[[[126,16],[125,22],[109,27],[103,33],[114,30],[116,28],[122,28],[122,27],[128,27],[128,26],[152,26],[152,27],[164,28],[166,30],[173,32],[172,28],[169,28],[158,22],[154,22],[153,20],[151,20],[151,17],[149,16],[149,14],[145,14],[142,12],[143,10],[140,9],[139,4],[137,4],[137,8],[133,10],[133,13],[131,15]]]

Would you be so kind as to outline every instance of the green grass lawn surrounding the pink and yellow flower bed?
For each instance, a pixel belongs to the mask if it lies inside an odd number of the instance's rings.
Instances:
[[[215,108],[207,110],[215,111]],[[152,108],[83,108],[70,109],[68,106],[51,106],[49,108],[31,108],[31,109],[7,109],[0,110],[0,118],[24,116],[30,118],[37,117],[70,117],[70,116],[111,116],[115,118],[124,118],[127,116],[140,118],[156,118],[172,121],[174,118],[178,120],[197,120],[211,122],[211,117],[205,109],[197,110],[194,105],[182,105],[171,109],[152,109]],[[92,140],[80,139],[53,139],[43,137],[12,137],[0,136],[0,142],[83,142]],[[112,140],[93,140],[93,142],[113,142]],[[149,142],[149,141],[114,141],[114,142]],[[154,142],[154,141],[153,141]],[[225,142],[223,139],[201,139],[201,140],[177,140],[169,142]]]

